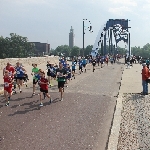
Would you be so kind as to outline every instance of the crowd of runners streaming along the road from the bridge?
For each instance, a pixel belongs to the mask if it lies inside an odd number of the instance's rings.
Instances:
[[[108,57],[107,59],[100,59],[93,58],[90,62],[93,66],[93,72],[95,70],[96,63],[102,64],[106,62],[108,65]],[[64,93],[64,86],[68,87],[68,81],[75,79],[75,73],[77,70],[77,66],[79,66],[79,74],[82,72],[87,72],[86,65],[89,63],[89,60],[80,58],[78,61],[72,59],[71,64],[69,65],[67,60],[64,58],[60,59],[59,64],[53,64],[50,61],[47,62],[47,74],[44,70],[39,69],[37,64],[32,64],[33,69],[31,75],[33,76],[33,94],[35,95],[35,87],[38,84],[40,87],[40,106],[43,106],[43,98],[49,98],[49,102],[52,102],[52,98],[50,94],[48,94],[49,86],[53,86],[53,80],[58,81],[58,89],[60,92],[61,101],[63,101],[63,93]],[[99,63],[98,63],[99,65]],[[12,66],[10,63],[7,63],[7,66],[3,69],[3,76],[4,76],[4,96],[6,99],[6,106],[9,106],[9,101],[11,99],[12,93],[16,88],[16,85],[19,88],[20,93],[22,92],[23,83],[27,82],[28,75],[25,67],[17,62],[15,66]],[[16,84],[14,84],[16,83]],[[16,91],[15,91],[16,92]]]

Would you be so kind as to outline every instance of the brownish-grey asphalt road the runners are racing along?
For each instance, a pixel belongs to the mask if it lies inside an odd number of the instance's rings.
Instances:
[[[6,107],[0,97],[0,150],[105,150],[111,128],[123,64],[97,67],[77,75],[60,100],[50,89],[52,104],[29,86],[12,96]],[[37,89],[38,90],[38,89]]]

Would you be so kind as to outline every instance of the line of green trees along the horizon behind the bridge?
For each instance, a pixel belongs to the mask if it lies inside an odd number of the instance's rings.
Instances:
[[[93,45],[88,45],[84,49],[84,56],[90,55]],[[107,51],[109,47],[106,46]],[[119,54],[126,54],[125,48],[117,47]],[[29,56],[35,56],[38,50],[35,48],[35,45],[31,42],[28,42],[27,37],[22,37],[20,35],[10,33],[10,37],[0,37],[0,59],[3,58],[25,58]],[[99,49],[101,53],[101,49]],[[142,56],[143,58],[150,58],[150,44],[147,43],[142,48],[131,47],[131,54],[136,56]],[[68,45],[58,46],[56,49],[50,50],[50,55],[61,56],[82,56],[83,48],[74,46],[70,48]],[[42,56],[42,54],[41,54]]]

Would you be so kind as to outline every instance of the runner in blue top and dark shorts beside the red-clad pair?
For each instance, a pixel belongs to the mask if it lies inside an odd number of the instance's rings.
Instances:
[[[20,93],[22,92],[21,86],[23,85],[23,80],[25,79],[24,74],[26,73],[26,70],[21,66],[19,62],[16,63],[16,81],[19,88]]]

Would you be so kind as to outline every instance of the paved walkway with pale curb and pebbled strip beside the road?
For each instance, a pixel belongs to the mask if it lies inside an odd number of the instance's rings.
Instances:
[[[124,67],[108,150],[150,150],[150,96],[139,94],[141,70]]]

